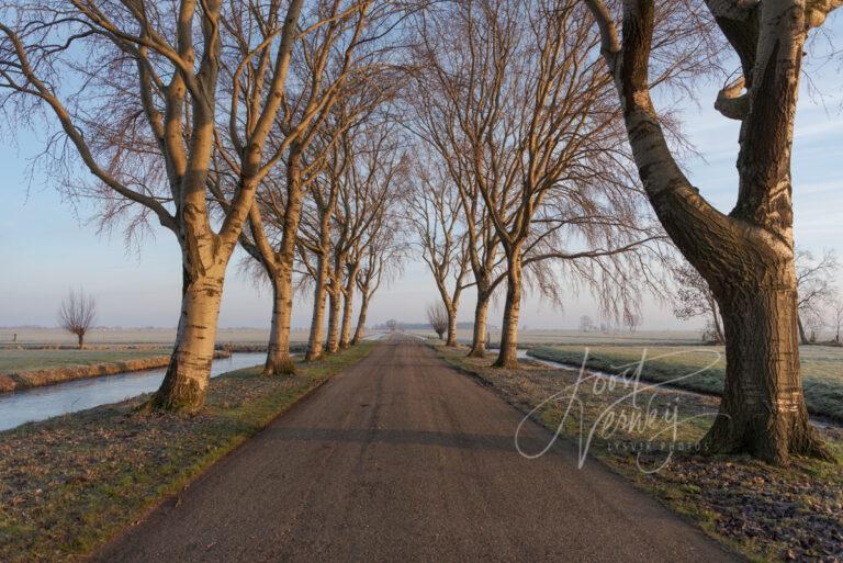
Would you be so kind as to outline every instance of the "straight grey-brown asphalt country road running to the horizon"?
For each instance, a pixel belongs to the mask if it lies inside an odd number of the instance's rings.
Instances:
[[[570,444],[522,458],[521,418],[395,336],[93,560],[743,561]]]

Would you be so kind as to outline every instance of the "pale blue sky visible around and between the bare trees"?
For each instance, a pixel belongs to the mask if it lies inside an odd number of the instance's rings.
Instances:
[[[843,18],[836,15],[830,23],[831,35],[843,37]],[[843,70],[836,61],[812,65],[808,76],[811,88],[802,80],[793,151],[795,236],[797,245],[818,254],[824,248],[843,251]],[[728,212],[738,191],[738,124],[712,109],[715,95],[713,86],[705,87],[698,103],[684,105],[685,132],[700,154],[684,166],[701,193]],[[58,306],[71,288],[85,288],[95,296],[98,325],[175,326],[181,267],[172,234],[154,226],[154,237],[145,240],[139,252],[126,249],[119,230],[98,235],[89,221],[92,209],[74,209],[63,201],[58,187],[44,173],[36,171],[30,178],[31,161],[42,143],[31,133],[12,142],[0,130],[0,326],[55,326]],[[238,250],[228,267],[220,326],[266,327],[271,294],[239,272],[243,256]],[[463,299],[460,320],[472,318],[471,293]],[[403,275],[375,295],[369,324],[389,318],[422,322],[426,305],[436,299],[432,278],[413,257]],[[499,325],[502,302],[498,299],[491,312],[492,325]],[[528,295],[521,306],[521,326],[574,328],[583,314],[598,318],[598,307],[587,295],[569,295],[562,308]],[[295,301],[293,326],[307,326],[310,316],[311,302],[303,294]],[[670,307],[653,300],[643,304],[643,329],[697,326],[701,320],[678,322]]]

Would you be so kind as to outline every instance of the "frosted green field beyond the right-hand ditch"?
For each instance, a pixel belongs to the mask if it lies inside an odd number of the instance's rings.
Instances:
[[[581,365],[585,347],[537,346],[528,354],[541,360]],[[843,421],[843,349],[803,346],[799,349],[802,385],[808,412]],[[643,359],[643,362],[642,362]],[[586,367],[616,374],[632,374],[641,365],[641,379],[672,382],[677,387],[720,395],[726,379],[722,346],[696,347],[588,347]],[[700,372],[693,376],[690,373]]]

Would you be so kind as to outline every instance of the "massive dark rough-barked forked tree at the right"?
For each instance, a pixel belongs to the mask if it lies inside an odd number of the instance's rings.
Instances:
[[[776,464],[791,455],[831,459],[802,393],[790,148],[806,37],[840,3],[707,0],[706,12],[685,2],[586,0],[644,191],[723,316],[726,385],[720,416],[702,440],[708,451],[749,452]],[[615,10],[622,10],[622,36]],[[687,88],[699,60],[717,60],[707,49],[712,25],[741,64],[740,78],[715,103],[741,122],[740,185],[729,215],[683,173],[651,98],[654,86],[672,79]]]

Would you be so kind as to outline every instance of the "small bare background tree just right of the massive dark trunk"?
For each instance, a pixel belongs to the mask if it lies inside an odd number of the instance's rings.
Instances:
[[[834,250],[824,250],[822,257],[814,259],[810,250],[796,249],[797,326],[803,345],[812,342],[805,327],[816,328],[822,323],[822,307],[834,296],[834,279],[839,271],[840,263]]]

